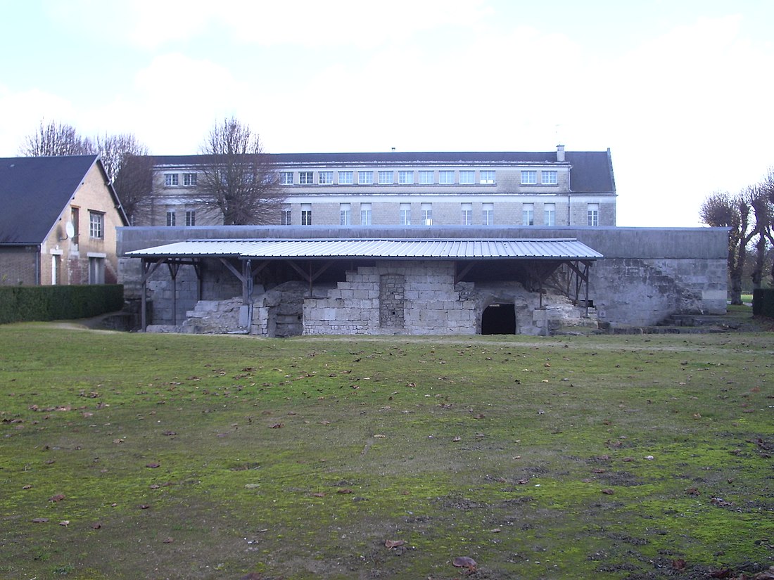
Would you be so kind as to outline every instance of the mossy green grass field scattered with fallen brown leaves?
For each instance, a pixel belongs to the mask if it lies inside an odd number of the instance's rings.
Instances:
[[[0,578],[755,578],[772,354],[0,326]]]

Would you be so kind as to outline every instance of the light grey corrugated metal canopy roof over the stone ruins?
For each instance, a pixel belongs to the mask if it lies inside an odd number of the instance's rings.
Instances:
[[[403,258],[598,260],[598,251],[575,239],[533,240],[191,240],[128,252],[163,256],[233,258]]]

